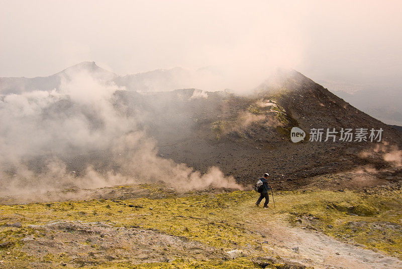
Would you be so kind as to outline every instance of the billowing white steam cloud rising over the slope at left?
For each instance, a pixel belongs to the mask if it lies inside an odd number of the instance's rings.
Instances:
[[[157,180],[182,190],[211,185],[240,188],[218,168],[201,175],[158,157],[155,141],[142,125],[147,112],[128,115],[125,107],[116,105],[115,93],[122,90],[77,72],[57,90],[1,97],[0,196]],[[198,95],[205,98],[203,92]],[[79,158],[103,151],[105,158],[112,158],[109,166],[113,167],[89,162],[84,172],[75,174],[65,161],[66,156]],[[44,165],[38,167],[37,160],[44,160]]]

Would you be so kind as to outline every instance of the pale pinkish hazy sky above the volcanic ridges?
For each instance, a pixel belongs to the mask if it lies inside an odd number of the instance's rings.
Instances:
[[[81,61],[118,74],[272,66],[314,80],[397,83],[400,1],[0,1],[0,77]]]

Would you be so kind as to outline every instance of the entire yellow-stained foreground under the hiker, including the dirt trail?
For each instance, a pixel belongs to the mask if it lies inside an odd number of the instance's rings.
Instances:
[[[400,190],[151,197],[1,205],[0,267],[402,268]]]

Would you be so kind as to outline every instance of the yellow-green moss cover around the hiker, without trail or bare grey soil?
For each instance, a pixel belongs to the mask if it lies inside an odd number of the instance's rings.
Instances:
[[[160,191],[150,185],[143,187]],[[269,240],[260,232],[261,227],[266,220],[274,219],[284,219],[290,225],[317,229],[349,243],[358,243],[366,248],[402,257],[400,192],[389,191],[386,195],[372,196],[352,191],[314,190],[276,192],[274,195],[276,208],[273,208],[271,201],[268,210],[254,206],[257,198],[254,191],[213,195],[189,194],[185,197],[171,194],[171,197],[163,199],[100,199],[1,205],[1,222],[22,223],[21,228],[6,225],[0,227],[0,243],[10,242],[8,246],[0,248],[0,254],[3,256],[1,259],[5,261],[4,264],[20,267],[35,260],[34,256],[20,251],[23,244],[21,239],[29,235],[34,238],[44,236],[29,225],[46,224],[56,220],[100,221],[115,227],[155,229],[166,234],[184,236],[224,251],[247,249],[250,253],[247,258],[233,260],[176,259],[137,265],[113,262],[102,265],[105,268],[255,268],[258,266],[251,261],[251,257],[261,250],[262,241]],[[46,258],[42,259],[41,262],[48,262]],[[53,264],[68,261],[68,257],[63,255],[48,259],[52,260]],[[97,265],[96,268],[102,266]]]

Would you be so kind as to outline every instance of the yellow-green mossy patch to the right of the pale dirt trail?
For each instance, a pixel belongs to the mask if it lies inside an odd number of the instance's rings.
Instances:
[[[351,191],[300,194],[289,221],[313,227],[342,241],[402,257],[402,196]]]

